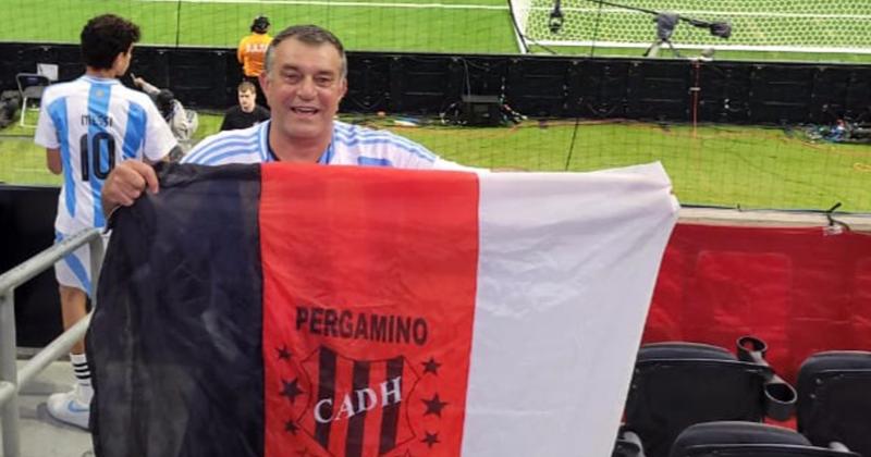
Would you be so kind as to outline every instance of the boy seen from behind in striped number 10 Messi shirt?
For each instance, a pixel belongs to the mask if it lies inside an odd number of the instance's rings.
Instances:
[[[85,74],[46,89],[34,139],[46,148],[48,169],[63,174],[54,222],[58,240],[106,225],[99,196],[113,168],[126,161],[158,161],[176,147],[151,99],[116,79],[130,66],[139,27],[106,14],[88,21],[81,39]],[[87,296],[96,287],[89,265],[87,246],[54,265],[65,329],[86,314]],[[48,411],[87,429],[94,391],[84,346],[83,341],[77,342],[70,354],[75,386],[51,395]]]

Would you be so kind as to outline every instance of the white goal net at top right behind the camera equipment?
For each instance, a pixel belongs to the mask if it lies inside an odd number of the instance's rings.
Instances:
[[[610,4],[609,4],[610,3]],[[677,47],[739,51],[871,53],[871,1],[795,0],[562,0],[562,27],[549,27],[553,0],[512,0],[526,46],[647,48],[657,39],[657,12],[702,22],[728,22],[729,39],[682,21]],[[648,10],[639,11],[639,10]]]

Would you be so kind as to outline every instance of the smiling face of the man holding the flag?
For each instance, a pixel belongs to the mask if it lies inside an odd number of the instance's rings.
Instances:
[[[286,139],[332,137],[332,122],[347,90],[342,59],[329,44],[309,45],[294,38],[275,47],[269,74],[260,75],[272,125]]]

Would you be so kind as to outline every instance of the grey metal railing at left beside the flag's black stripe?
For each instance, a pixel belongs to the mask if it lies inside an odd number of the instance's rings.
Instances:
[[[0,432],[3,437],[3,456],[21,455],[19,425],[19,391],[49,363],[66,354],[81,339],[90,322],[90,313],[42,348],[17,371],[15,350],[15,287],[29,281],[78,247],[90,246],[91,284],[96,291],[102,263],[103,246],[100,231],[82,231],[37,254],[12,270],[0,275]],[[93,294],[95,295],[95,294]],[[96,297],[91,296],[96,306]]]

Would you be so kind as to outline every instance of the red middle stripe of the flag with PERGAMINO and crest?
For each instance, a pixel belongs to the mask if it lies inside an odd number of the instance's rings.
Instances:
[[[261,189],[266,455],[458,455],[477,176],[268,164]]]

